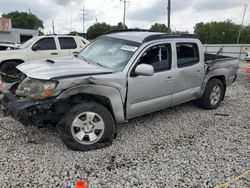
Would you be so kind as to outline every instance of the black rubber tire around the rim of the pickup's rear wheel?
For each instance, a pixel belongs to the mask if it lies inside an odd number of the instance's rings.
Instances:
[[[220,88],[220,96],[218,97],[218,100],[213,102],[211,99],[211,95],[213,89],[216,87]],[[213,110],[220,105],[224,95],[225,95],[225,88],[223,86],[223,83],[218,79],[212,78],[208,81],[203,96],[200,99],[198,99],[196,103],[198,104],[198,106],[206,110]]]

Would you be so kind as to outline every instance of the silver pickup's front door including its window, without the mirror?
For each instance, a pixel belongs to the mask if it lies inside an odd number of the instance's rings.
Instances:
[[[172,103],[171,44],[149,47],[138,61],[139,64],[152,65],[154,75],[133,75],[132,70],[128,78],[127,118],[166,108]]]

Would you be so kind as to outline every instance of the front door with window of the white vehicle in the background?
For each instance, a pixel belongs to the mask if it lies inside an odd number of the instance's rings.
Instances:
[[[40,49],[34,50],[32,47],[39,45]],[[58,50],[54,37],[45,37],[39,39],[29,50],[29,61],[38,59],[48,59],[58,57]]]

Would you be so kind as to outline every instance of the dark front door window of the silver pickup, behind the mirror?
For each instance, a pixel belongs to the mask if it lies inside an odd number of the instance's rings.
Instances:
[[[170,44],[156,45],[148,49],[140,59],[139,64],[149,64],[155,72],[171,69],[171,46]]]

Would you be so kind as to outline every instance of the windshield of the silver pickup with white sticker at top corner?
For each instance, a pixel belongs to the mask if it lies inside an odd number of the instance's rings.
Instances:
[[[84,48],[78,57],[122,71],[139,46],[137,42],[103,36]]]

